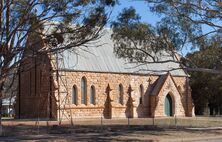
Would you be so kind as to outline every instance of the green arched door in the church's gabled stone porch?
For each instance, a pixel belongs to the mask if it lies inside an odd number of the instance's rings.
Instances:
[[[165,98],[164,110],[165,110],[166,116],[173,116],[172,98],[169,94],[167,94]]]

